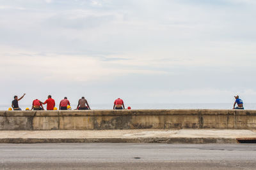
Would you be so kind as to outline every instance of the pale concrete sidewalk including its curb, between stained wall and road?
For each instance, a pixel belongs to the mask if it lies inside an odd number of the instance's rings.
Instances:
[[[237,143],[237,138],[256,139],[256,130],[0,131],[0,143]]]

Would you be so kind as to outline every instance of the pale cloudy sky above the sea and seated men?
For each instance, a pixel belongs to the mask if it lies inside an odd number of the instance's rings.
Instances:
[[[1,104],[256,103],[254,0],[0,0]]]

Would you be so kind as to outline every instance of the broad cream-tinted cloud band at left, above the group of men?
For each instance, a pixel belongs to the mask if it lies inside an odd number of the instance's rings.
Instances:
[[[86,55],[56,55],[47,53],[38,55],[35,52],[11,50],[2,46],[0,70],[7,71],[4,79],[19,76],[28,80],[40,75],[40,81],[65,81],[63,76],[72,82],[109,81],[126,74],[163,74],[163,71],[140,69],[139,67],[118,67],[122,59],[105,57],[90,57]],[[10,52],[10,51],[12,52]],[[4,58],[8,54],[9,57]],[[124,63],[127,61],[125,59]],[[116,63],[117,62],[117,63]],[[116,65],[116,66],[115,66]],[[15,68],[22,68],[17,73]],[[118,73],[118,74],[115,74]]]

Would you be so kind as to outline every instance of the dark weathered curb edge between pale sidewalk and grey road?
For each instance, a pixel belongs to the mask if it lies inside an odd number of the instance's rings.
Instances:
[[[1,138],[0,143],[237,143],[236,138]]]

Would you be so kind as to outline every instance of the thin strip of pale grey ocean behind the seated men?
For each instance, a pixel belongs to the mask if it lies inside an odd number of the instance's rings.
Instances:
[[[90,104],[90,103],[89,103]],[[131,106],[131,109],[223,109],[228,110],[233,108],[234,103],[178,103],[178,104],[128,104],[125,105]],[[72,109],[76,109],[77,105],[72,104]],[[46,108],[46,106],[44,106]],[[0,105],[0,110],[8,110],[10,105],[3,104]],[[26,108],[31,108],[31,105],[21,105],[20,108],[22,110],[26,110]],[[111,110],[113,109],[113,104],[90,104],[90,108],[92,110]],[[245,110],[256,110],[256,103],[246,103],[244,104]]]

